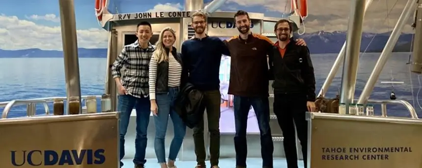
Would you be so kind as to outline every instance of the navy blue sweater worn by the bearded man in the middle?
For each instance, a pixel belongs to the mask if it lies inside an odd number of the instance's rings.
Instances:
[[[182,44],[182,62],[189,72],[188,82],[200,90],[220,87],[221,55],[230,55],[227,46],[218,37],[191,39]]]

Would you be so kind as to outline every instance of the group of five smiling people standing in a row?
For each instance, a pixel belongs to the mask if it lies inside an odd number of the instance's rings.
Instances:
[[[132,109],[136,109],[135,168],[144,168],[147,127],[154,114],[154,148],[161,168],[176,168],[175,160],[185,137],[186,126],[172,108],[180,89],[193,84],[204,95],[210,132],[211,168],[219,168],[220,155],[220,90],[219,66],[222,55],[231,57],[228,94],[234,95],[236,135],[236,168],[246,168],[246,126],[250,106],[254,108],[261,134],[263,168],[273,168],[273,142],[269,126],[269,80],[274,80],[274,113],[283,131],[288,168],[297,168],[295,129],[307,155],[307,122],[305,112],[315,109],[315,76],[309,50],[303,39],[294,40],[292,25],[280,20],[274,26],[278,42],[254,34],[247,12],[234,16],[238,36],[222,41],[205,31],[207,16],[192,15],[195,36],[183,42],[181,52],[173,46],[176,39],[171,27],[164,28],[158,42],[149,42],[152,27],[143,21],[137,25],[138,40],[124,46],[112,65],[112,76],[118,86],[120,159],[125,155],[125,135]],[[120,70],[125,66],[124,76]],[[122,79],[121,79],[122,77]],[[172,119],[174,137],[166,161],[164,139],[168,118]],[[197,166],[206,168],[203,118],[193,129]],[[123,163],[120,162],[120,166]]]

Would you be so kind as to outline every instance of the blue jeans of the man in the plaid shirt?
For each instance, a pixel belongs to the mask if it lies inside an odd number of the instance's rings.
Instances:
[[[125,156],[125,135],[128,131],[129,119],[132,109],[136,109],[136,139],[135,139],[135,165],[143,165],[145,160],[145,150],[147,148],[147,128],[150,122],[151,104],[150,98],[136,98],[132,95],[119,95],[118,111],[121,112],[119,123],[120,134],[120,160]],[[120,167],[123,163],[120,162]]]

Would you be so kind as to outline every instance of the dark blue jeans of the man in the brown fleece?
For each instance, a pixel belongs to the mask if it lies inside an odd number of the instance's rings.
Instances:
[[[248,123],[249,107],[252,105],[260,128],[261,135],[261,155],[263,158],[263,167],[272,168],[274,145],[272,142],[271,129],[269,127],[269,102],[268,98],[248,98],[235,96],[235,149],[236,166],[246,167],[247,144],[246,144],[246,126]]]

